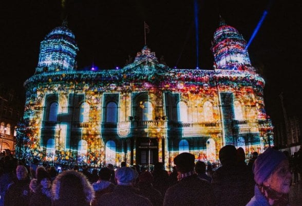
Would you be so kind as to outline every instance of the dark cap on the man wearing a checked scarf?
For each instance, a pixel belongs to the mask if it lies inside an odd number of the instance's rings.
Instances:
[[[177,166],[178,170],[182,173],[190,172],[195,166],[195,156],[188,152],[183,152],[174,158],[174,164]]]

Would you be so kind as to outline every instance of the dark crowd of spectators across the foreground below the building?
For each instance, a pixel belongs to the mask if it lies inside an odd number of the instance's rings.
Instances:
[[[301,150],[298,166],[301,164]],[[54,167],[26,166],[6,156],[1,161],[1,205],[288,205],[289,157],[269,148],[244,162],[242,148],[226,145],[222,164],[206,174],[203,162],[181,153],[168,174],[162,163],[152,172],[139,167],[93,170],[79,167],[57,174]]]

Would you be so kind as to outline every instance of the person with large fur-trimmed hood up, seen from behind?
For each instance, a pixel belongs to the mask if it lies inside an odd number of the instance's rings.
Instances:
[[[90,205],[95,198],[86,176],[80,172],[67,170],[56,176],[52,185],[53,205]]]

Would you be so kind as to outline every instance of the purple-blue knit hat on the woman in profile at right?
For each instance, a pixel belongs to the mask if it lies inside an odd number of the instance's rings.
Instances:
[[[285,154],[272,148],[260,154],[253,164],[256,183],[261,185],[284,160],[287,160]]]

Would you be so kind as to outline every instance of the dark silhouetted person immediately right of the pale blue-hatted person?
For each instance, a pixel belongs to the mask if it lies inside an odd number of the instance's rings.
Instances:
[[[158,190],[154,189],[152,182],[153,176],[150,172],[145,171],[141,173],[137,184],[139,194],[148,198],[153,205],[162,205],[163,196]]]

